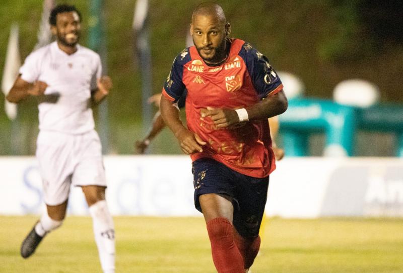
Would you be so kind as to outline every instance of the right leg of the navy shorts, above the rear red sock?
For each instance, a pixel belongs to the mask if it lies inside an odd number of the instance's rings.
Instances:
[[[259,234],[267,201],[268,177],[244,176],[236,195],[233,224],[242,237],[254,238]]]

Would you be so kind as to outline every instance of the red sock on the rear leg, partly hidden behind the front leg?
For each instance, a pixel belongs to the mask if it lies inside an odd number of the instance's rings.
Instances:
[[[253,239],[245,239],[234,229],[234,241],[242,255],[244,267],[249,268],[252,266],[257,252],[259,252],[260,236]]]

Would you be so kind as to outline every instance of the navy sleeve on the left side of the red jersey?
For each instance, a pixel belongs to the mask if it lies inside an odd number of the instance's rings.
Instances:
[[[183,50],[173,61],[171,72],[165,80],[162,94],[172,102],[178,102],[185,92],[185,85],[182,81],[183,66],[190,61],[188,48]],[[186,95],[185,95],[186,96]]]

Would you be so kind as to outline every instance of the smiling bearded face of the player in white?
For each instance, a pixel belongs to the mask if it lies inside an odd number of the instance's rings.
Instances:
[[[51,29],[58,42],[74,47],[80,39],[80,17],[76,12],[59,13],[56,17],[56,26],[52,26]]]

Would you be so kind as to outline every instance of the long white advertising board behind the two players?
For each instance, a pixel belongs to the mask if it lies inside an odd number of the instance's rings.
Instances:
[[[201,216],[188,156],[105,156],[104,163],[113,215]],[[0,157],[0,214],[40,214],[41,188],[34,157]],[[88,214],[80,188],[72,188],[68,212]],[[270,177],[266,213],[403,217],[403,159],[285,158]]]

